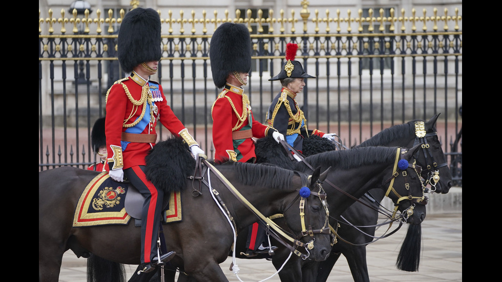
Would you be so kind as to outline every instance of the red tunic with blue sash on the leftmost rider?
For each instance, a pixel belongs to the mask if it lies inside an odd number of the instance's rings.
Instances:
[[[109,163],[112,162],[111,158],[114,156],[114,151],[110,146],[121,146],[121,134],[122,132],[126,132],[126,129],[129,128],[124,127],[124,123],[133,123],[142,113],[144,104],[134,105],[131,98],[134,101],[141,100],[143,84],[157,95],[160,95],[163,100],[152,102],[152,106],[150,107],[151,111],[145,111],[145,117],[151,117],[152,113],[154,118],[153,121],[150,119],[148,125],[146,125],[144,129],[137,129],[140,131],[138,133],[156,134],[155,125],[157,124],[157,120],[160,120],[162,125],[176,137],[179,137],[179,132],[185,128],[173,113],[171,107],[167,104],[164,93],[162,92],[162,86],[154,81],[147,82],[133,72],[128,78],[116,81],[107,94],[105,134],[107,138]],[[126,89],[130,93],[131,98],[128,97]],[[157,112],[154,110],[154,106],[157,106]],[[123,169],[134,165],[146,165],[144,158],[154,145],[155,142],[131,142],[127,144],[125,148],[122,146]],[[112,169],[112,167],[110,167],[110,169]]]

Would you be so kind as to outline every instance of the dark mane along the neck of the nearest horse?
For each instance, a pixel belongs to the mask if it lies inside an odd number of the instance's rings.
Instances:
[[[237,181],[244,185],[259,183],[269,189],[281,189],[291,186],[292,177],[298,175],[302,180],[302,186],[307,186],[307,176],[298,171],[267,164],[233,163],[231,165],[236,168]]]

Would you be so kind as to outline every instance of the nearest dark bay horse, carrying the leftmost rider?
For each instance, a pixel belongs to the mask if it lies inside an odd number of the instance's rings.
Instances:
[[[160,153],[158,158],[164,163],[175,163],[171,165],[173,171],[182,173],[179,177],[179,173],[173,176],[162,170],[147,172],[147,177],[151,177],[152,182],[159,185],[157,187],[179,188],[181,193],[182,221],[163,227],[166,249],[176,252],[170,261],[171,266],[199,281],[227,281],[219,264],[228,257],[235,234],[257,221],[257,215],[250,211],[249,205],[263,216],[283,213],[291,237],[299,238],[295,242],[303,246],[313,243],[309,258],[320,261],[329,254],[331,235],[327,229],[325,200],[320,197],[320,169],[309,173],[311,177],[308,178],[304,173],[269,165],[236,163],[213,166],[206,162],[207,172],[200,183],[193,177],[191,179],[196,161],[180,139],[160,142],[154,151]],[[102,177],[98,172],[74,167],[38,173],[39,281],[58,280],[62,255],[70,248],[85,257],[92,254],[118,264],[140,263],[140,227],[135,226],[134,220],[126,225],[73,227],[80,195],[98,175]],[[156,182],[154,176],[161,176],[164,180]],[[162,183],[169,187],[162,186]],[[305,186],[308,188],[302,188]],[[303,193],[299,197],[299,189],[311,191],[310,196]],[[194,194],[194,191],[198,193]],[[243,198],[237,196],[239,193]],[[220,202],[215,200],[216,194]],[[243,204],[242,199],[248,201],[248,205]],[[305,201],[304,220],[308,226],[327,229],[327,232],[303,236],[301,201]],[[227,213],[221,206],[228,209]],[[298,249],[303,253],[305,250]],[[93,269],[92,273],[99,276],[99,271],[107,272]]]

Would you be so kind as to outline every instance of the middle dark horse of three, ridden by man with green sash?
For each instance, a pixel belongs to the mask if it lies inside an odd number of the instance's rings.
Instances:
[[[263,144],[261,144],[263,142]],[[284,166],[291,164],[289,159],[284,154],[277,154],[277,145],[273,141],[259,140],[257,148],[260,150],[261,146],[266,148],[266,156],[273,156],[272,151],[276,151],[274,155],[276,160],[277,156],[283,156],[280,161]],[[281,148],[282,149],[282,148]],[[414,155],[420,149],[420,146],[415,146],[409,149],[406,154],[400,155],[407,159],[409,163],[414,162]],[[329,215],[331,226],[337,226],[337,220],[346,208],[348,208],[355,200],[361,197],[366,191],[372,188],[379,188],[384,193],[389,188],[388,179],[394,175],[396,152],[401,150],[399,147],[362,147],[353,148],[341,151],[329,151],[314,156],[309,156],[305,160],[313,166],[328,167],[331,166],[326,181],[323,185],[328,197]],[[265,160],[262,160],[265,161]],[[270,160],[271,161],[271,160]],[[309,171],[311,168],[305,166],[302,162],[293,162],[292,168],[294,170]],[[393,187],[398,190],[398,193],[403,195],[408,193],[412,195],[414,200],[399,201],[397,197],[389,194],[389,198],[394,203],[398,204],[398,209],[402,212],[403,216],[407,217],[406,210],[413,207],[413,214],[406,220],[410,224],[420,224],[425,219],[425,202],[424,187],[421,178],[417,172],[412,168],[407,168],[408,178],[398,176],[395,178]],[[406,185],[406,183],[408,185]],[[338,189],[328,185],[329,183],[338,186],[349,192],[352,196],[347,196],[341,193]],[[409,190],[406,188],[409,187]],[[417,201],[421,201],[417,203]],[[399,202],[399,203],[398,203]],[[338,240],[340,242],[340,240]],[[243,248],[245,242],[238,244],[238,247]],[[337,243],[338,244],[338,243]],[[334,244],[336,246],[337,244]],[[279,248],[272,258],[272,262],[276,269],[282,270],[279,272],[282,281],[317,281],[317,267],[313,261],[298,259],[292,257],[284,264],[288,251],[284,248]],[[329,257],[328,257],[329,259]],[[303,267],[303,269],[302,269]],[[312,269],[310,269],[310,267]]]

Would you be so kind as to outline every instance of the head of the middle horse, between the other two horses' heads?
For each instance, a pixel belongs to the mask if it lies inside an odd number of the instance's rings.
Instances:
[[[400,211],[400,220],[410,224],[421,224],[426,216],[425,187],[420,176],[420,166],[414,155],[421,145],[411,149],[400,148],[396,152],[394,172],[383,186],[388,187],[386,196],[394,202],[394,214]]]

